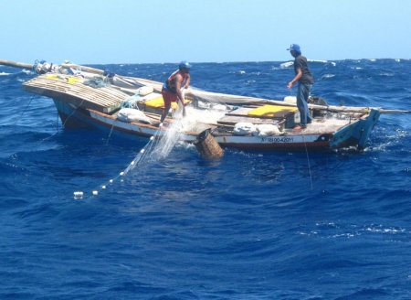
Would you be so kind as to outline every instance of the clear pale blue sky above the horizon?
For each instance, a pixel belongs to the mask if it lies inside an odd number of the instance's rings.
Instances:
[[[410,59],[407,0],[0,0],[1,55],[32,63]]]

